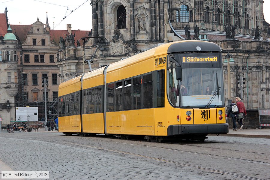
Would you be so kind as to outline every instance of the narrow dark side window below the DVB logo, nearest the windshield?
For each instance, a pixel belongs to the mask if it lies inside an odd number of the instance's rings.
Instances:
[[[164,70],[157,71],[157,107],[164,107],[165,78]]]

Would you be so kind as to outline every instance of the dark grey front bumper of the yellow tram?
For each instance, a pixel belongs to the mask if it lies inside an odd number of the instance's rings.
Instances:
[[[227,134],[228,123],[223,124],[201,124],[201,125],[169,125],[168,136],[184,134]]]

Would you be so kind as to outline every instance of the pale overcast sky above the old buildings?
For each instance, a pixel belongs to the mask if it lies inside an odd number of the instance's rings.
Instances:
[[[67,24],[71,24],[72,30],[91,30],[90,2],[90,0],[0,0],[0,13],[4,13],[7,7],[10,24],[29,25],[36,22],[37,18],[45,24],[47,13],[51,29],[66,29]],[[263,12],[268,23],[270,23],[269,8],[270,0],[265,0]]]

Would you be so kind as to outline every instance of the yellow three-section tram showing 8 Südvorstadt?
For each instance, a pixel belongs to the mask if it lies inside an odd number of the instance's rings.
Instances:
[[[59,85],[59,132],[204,140],[226,134],[222,53],[206,41],[156,46]]]

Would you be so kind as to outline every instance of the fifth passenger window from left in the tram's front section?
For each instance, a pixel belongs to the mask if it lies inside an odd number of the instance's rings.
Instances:
[[[143,74],[143,108],[153,107],[153,73]]]

